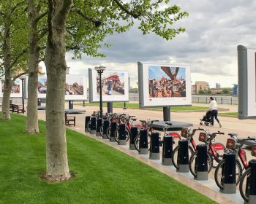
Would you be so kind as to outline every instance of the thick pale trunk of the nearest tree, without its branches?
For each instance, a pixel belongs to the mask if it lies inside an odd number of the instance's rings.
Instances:
[[[52,2],[49,0],[49,2]],[[72,1],[49,4],[48,42],[45,50],[47,71],[46,97],[46,163],[48,179],[70,178],[64,125],[64,97],[67,64],[65,60],[66,17]]]

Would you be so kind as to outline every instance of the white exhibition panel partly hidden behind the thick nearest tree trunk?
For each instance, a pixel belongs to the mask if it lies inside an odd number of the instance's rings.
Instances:
[[[47,77],[39,76],[37,83],[38,98],[46,98]],[[86,76],[66,75],[65,100],[87,99]]]

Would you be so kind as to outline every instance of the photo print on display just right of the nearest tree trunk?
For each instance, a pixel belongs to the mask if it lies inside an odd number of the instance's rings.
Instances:
[[[83,95],[83,77],[67,76],[65,95]]]

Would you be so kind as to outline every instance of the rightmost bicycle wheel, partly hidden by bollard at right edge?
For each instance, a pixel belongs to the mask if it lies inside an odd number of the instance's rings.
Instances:
[[[241,194],[241,197],[243,197],[243,199],[246,202],[249,202],[249,181],[251,179],[251,168],[247,168],[246,171],[244,171],[241,180],[240,180],[240,184],[239,184],[239,191]]]

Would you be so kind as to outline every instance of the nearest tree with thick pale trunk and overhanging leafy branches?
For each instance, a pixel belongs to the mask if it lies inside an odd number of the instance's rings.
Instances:
[[[180,7],[163,7],[167,0],[132,1],[72,1],[48,0],[48,41],[45,50],[48,91],[46,101],[46,156],[47,178],[63,181],[70,178],[64,127],[64,87],[66,74],[65,52],[102,56],[97,50],[107,34],[124,32],[140,22],[143,34],[154,32],[169,40],[184,28],[171,28],[173,23],[186,17]],[[127,24],[124,24],[127,22]],[[66,31],[68,35],[66,35]],[[73,42],[72,44],[69,42]],[[108,45],[107,45],[108,46]]]

